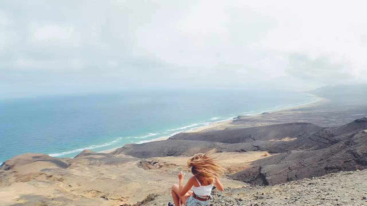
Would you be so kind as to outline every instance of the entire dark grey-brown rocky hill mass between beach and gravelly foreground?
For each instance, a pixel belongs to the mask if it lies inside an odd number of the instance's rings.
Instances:
[[[251,184],[274,185],[367,167],[367,118],[322,128],[290,123],[205,133],[185,133],[165,141],[130,144],[111,154],[137,158],[193,155],[217,148],[218,152],[268,151],[280,153],[252,163],[230,175]]]

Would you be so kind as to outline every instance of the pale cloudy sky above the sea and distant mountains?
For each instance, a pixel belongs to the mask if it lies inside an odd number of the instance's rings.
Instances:
[[[0,0],[0,96],[367,82],[365,0]]]

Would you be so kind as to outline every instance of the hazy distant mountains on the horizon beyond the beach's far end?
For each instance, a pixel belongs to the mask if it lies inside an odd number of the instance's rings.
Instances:
[[[367,104],[367,84],[327,85],[312,91],[307,91],[307,93],[330,99],[334,103]]]

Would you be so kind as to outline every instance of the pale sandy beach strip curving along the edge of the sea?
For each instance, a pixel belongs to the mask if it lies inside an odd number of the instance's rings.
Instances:
[[[317,98],[317,100],[315,100],[313,102],[304,103],[304,104],[298,104],[298,105],[291,106],[291,107],[266,110],[266,111],[262,111],[260,113],[248,114],[248,115],[239,115],[239,116],[257,117],[257,116],[261,115],[264,112],[272,113],[272,112],[277,112],[277,111],[286,111],[286,110],[291,110],[291,109],[310,107],[310,106],[313,106],[313,104],[324,104],[324,103],[330,102],[330,100],[328,100],[326,98],[319,97],[317,95],[313,95],[313,94],[309,94],[309,93],[305,93],[305,94],[313,96],[313,97]],[[224,119],[224,120],[221,120],[221,121],[212,122],[211,124],[209,124],[207,126],[200,126],[200,127],[197,127],[197,128],[192,128],[192,129],[189,129],[189,130],[184,131],[182,133],[200,132],[200,131],[203,131],[203,130],[206,130],[206,129],[214,129],[214,128],[219,127],[219,126],[222,126],[222,127],[223,126],[224,127],[230,126],[230,123],[232,123],[233,120],[234,120],[233,118],[235,118],[235,117],[230,117],[228,119]],[[221,129],[221,128],[218,128],[218,129]],[[223,129],[225,129],[225,128],[223,128]],[[172,136],[174,136],[174,135],[172,135]],[[157,139],[153,139],[153,140],[146,140],[142,143],[131,143],[131,144],[143,144],[143,143],[152,142],[152,141],[163,141],[163,140],[169,139],[170,137],[161,137],[161,138],[157,138]],[[101,151],[100,153],[110,153],[110,152],[115,151],[117,148],[120,148],[120,147],[116,147],[116,148],[109,149],[109,150],[104,150],[104,151]]]

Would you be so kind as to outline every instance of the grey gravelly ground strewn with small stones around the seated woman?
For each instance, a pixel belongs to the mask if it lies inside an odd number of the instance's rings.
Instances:
[[[213,206],[367,205],[367,170],[332,173],[274,186],[213,190]],[[166,205],[169,195],[145,205]]]

